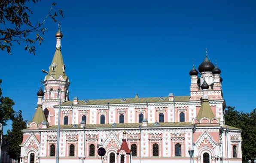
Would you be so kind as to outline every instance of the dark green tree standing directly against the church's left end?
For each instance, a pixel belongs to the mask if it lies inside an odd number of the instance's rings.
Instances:
[[[23,132],[26,129],[27,121],[22,118],[22,111],[16,113],[15,118],[12,120],[12,131],[7,130],[6,142],[8,143],[7,152],[12,159],[18,160],[21,154],[21,147],[19,146],[23,141]]]

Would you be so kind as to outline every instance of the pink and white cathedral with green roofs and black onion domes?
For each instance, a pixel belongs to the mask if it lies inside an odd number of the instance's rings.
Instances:
[[[55,163],[59,151],[60,163],[241,163],[242,131],[225,125],[221,70],[207,55],[188,73],[189,96],[70,100],[60,30],[55,37],[36,112],[22,130],[21,162]]]

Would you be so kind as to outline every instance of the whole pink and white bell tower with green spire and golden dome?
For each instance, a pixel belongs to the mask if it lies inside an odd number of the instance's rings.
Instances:
[[[62,103],[69,99],[68,88],[69,88],[70,82],[66,74],[66,66],[63,62],[63,58],[61,54],[61,39],[63,37],[63,34],[61,33],[60,29],[55,34],[55,37],[56,37],[56,49],[52,59],[52,64],[49,66],[50,75],[46,75],[43,82],[43,85],[45,87],[43,109],[52,108],[52,106],[58,105],[60,98]],[[58,82],[56,82],[55,78],[58,80]],[[61,90],[58,86],[58,83],[61,87]]]

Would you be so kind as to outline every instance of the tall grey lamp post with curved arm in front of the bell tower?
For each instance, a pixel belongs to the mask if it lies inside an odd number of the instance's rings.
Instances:
[[[42,69],[42,72],[52,76],[52,78],[55,79],[55,81],[58,83],[59,88],[60,88],[60,102],[59,102],[59,111],[58,111],[58,130],[57,130],[57,148],[56,148],[56,163],[59,163],[60,129],[61,129],[61,120],[60,120],[61,119],[61,86],[60,86],[60,83],[58,82],[58,80],[53,75],[49,74],[49,72],[47,72],[44,69]]]

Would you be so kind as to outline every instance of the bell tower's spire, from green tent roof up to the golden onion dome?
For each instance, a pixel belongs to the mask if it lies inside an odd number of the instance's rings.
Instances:
[[[55,34],[56,37],[56,49],[55,54],[52,59],[52,64],[49,67],[49,74],[53,75],[55,78],[58,78],[60,75],[64,78],[64,80],[67,79],[66,76],[66,66],[64,65],[62,54],[61,54],[61,39],[63,37],[63,34],[60,30],[60,25],[58,27],[58,32]],[[46,76],[46,79],[48,79],[50,75]]]

